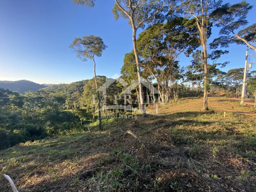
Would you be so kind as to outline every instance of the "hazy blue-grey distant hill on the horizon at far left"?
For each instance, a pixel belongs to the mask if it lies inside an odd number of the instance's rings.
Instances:
[[[4,89],[9,89],[11,91],[18,91],[20,94],[24,94],[28,91],[38,91],[47,87],[46,85],[41,85],[28,80],[19,81],[0,81],[0,87]]]

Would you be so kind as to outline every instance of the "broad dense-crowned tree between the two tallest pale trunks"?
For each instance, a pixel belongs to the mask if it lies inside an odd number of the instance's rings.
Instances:
[[[157,80],[160,98],[163,103],[170,95],[168,83],[174,84],[179,68],[177,58],[187,56],[200,46],[197,35],[188,19],[175,17],[165,24],[149,26],[139,34],[138,50],[143,58],[143,68]]]

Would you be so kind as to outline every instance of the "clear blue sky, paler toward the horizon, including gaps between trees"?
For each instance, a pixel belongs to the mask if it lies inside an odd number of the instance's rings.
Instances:
[[[256,5],[255,0],[247,2]],[[97,0],[94,8],[72,0],[0,0],[0,80],[59,84],[92,78],[93,62],[81,61],[69,49],[74,37],[90,34],[101,36],[108,46],[95,59],[96,74],[119,74],[124,54],[132,50],[132,30],[127,20],[114,20],[113,5],[114,0]],[[255,12],[256,6],[248,14],[250,24],[255,23]],[[213,28],[209,42],[218,31]],[[227,50],[230,53],[218,61],[230,61],[223,70],[244,67],[246,46],[232,44]],[[182,55],[179,60],[187,66],[191,58]]]

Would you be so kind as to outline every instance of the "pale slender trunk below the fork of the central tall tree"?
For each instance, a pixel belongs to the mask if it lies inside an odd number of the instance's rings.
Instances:
[[[140,106],[142,110],[142,116],[146,117],[146,110],[144,106],[144,99],[143,99],[143,90],[142,90],[142,78],[141,78],[141,71],[140,71],[140,62],[139,62],[139,56],[138,56],[138,50],[137,50],[137,43],[136,43],[136,32],[137,29],[135,29],[135,23],[134,20],[131,19],[132,22],[132,42],[133,42],[133,51],[135,55],[135,60],[137,64],[137,74],[139,79],[139,98],[140,98]]]

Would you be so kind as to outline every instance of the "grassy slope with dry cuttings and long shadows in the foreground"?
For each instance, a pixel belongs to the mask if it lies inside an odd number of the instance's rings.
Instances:
[[[14,146],[0,151],[0,174],[19,191],[255,191],[256,121],[222,112],[252,108],[222,97],[209,98],[209,112],[201,106],[182,99],[159,106],[166,116],[109,119],[101,133],[91,125]],[[0,191],[10,191],[2,176]]]

